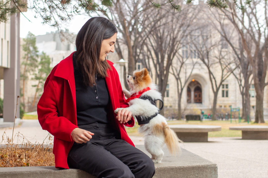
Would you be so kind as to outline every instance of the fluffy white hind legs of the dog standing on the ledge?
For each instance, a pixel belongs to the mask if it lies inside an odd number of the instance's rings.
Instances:
[[[152,155],[154,163],[161,163],[164,152],[162,150],[164,142],[159,137],[147,135],[144,138],[145,149]]]

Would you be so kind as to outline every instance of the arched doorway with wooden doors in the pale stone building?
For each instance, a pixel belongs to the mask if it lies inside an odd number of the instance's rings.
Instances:
[[[198,81],[192,80],[188,84],[187,103],[202,103],[202,89]]]

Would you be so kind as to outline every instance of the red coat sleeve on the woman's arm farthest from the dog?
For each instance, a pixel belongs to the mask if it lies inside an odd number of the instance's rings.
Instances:
[[[77,128],[75,124],[66,117],[58,116],[57,94],[52,80],[47,78],[38,105],[38,120],[42,129],[47,130],[53,136],[65,141],[72,141],[71,133]]]

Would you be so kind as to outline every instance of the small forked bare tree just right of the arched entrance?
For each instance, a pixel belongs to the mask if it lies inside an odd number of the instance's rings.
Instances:
[[[202,23],[202,26],[204,23]],[[201,37],[201,39],[199,38]],[[213,92],[212,120],[216,120],[217,96],[222,83],[236,69],[230,53],[219,39],[219,34],[213,28],[206,24],[206,28],[201,28],[192,35],[193,50],[196,50],[198,58],[206,66],[209,73],[209,80]],[[220,73],[220,77],[216,76]]]

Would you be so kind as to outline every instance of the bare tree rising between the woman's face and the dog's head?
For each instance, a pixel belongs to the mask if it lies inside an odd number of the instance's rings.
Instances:
[[[127,87],[126,76],[132,75],[136,69],[144,42],[157,22],[163,18],[163,14],[156,14],[155,18],[148,18],[155,14],[157,9],[152,3],[145,0],[115,0],[109,10],[111,15],[107,17],[116,25],[119,32],[118,42],[115,46],[116,52],[122,59],[125,55],[121,49],[126,48],[128,52],[128,69],[124,68],[124,82]]]

